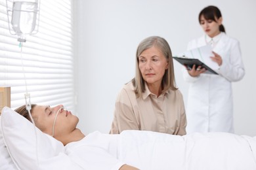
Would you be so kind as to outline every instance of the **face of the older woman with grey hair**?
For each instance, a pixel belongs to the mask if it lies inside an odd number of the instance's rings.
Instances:
[[[168,61],[155,46],[144,50],[139,56],[139,69],[148,85],[161,86],[161,80],[168,69]]]

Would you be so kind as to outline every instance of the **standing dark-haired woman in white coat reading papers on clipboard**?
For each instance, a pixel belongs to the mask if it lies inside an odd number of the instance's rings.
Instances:
[[[200,66],[184,71],[184,80],[190,83],[186,106],[187,133],[223,131],[234,133],[232,82],[241,80],[244,64],[240,44],[226,35],[221,11],[214,6],[205,7],[199,22],[205,35],[188,43],[188,50],[211,44],[211,59],[219,65],[219,75],[204,73]]]

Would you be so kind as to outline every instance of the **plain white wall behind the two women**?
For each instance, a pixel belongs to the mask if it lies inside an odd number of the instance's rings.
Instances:
[[[76,0],[75,92],[82,131],[109,132],[117,93],[135,75],[139,42],[158,35],[169,42],[173,54],[183,52],[188,41],[203,35],[198,13],[207,5],[221,9],[226,33],[242,48],[246,73],[232,85],[235,131],[256,135],[255,0]],[[177,86],[186,105],[188,83],[181,68],[175,61]]]

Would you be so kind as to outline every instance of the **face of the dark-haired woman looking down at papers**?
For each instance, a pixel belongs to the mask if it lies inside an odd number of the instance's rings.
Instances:
[[[203,28],[203,31],[209,36],[209,37],[215,37],[221,31],[219,31],[219,25],[222,23],[222,18],[215,18],[217,22],[214,20],[205,20],[204,16],[202,15],[200,18],[200,25]]]

